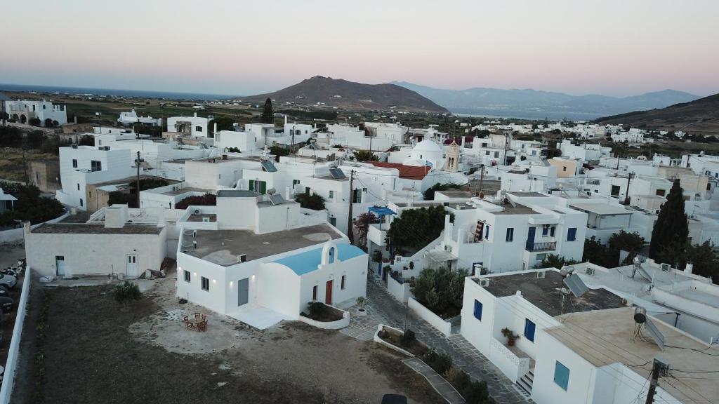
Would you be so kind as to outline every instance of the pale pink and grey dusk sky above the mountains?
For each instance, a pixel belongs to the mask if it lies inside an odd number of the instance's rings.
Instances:
[[[719,93],[716,0],[32,4],[31,18],[19,17],[22,1],[3,6],[0,83],[250,95],[324,75],[575,95]]]

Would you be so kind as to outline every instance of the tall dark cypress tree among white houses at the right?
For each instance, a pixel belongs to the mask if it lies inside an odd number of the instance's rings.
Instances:
[[[687,214],[684,213],[682,187],[677,179],[674,180],[672,190],[669,190],[667,195],[667,202],[661,206],[659,217],[651,231],[649,257],[656,260],[658,257],[671,257],[672,252],[682,252],[688,237],[689,224]]]

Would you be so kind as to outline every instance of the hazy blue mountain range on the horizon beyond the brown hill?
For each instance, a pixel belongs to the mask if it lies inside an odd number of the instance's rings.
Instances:
[[[467,88],[446,90],[403,81],[393,84],[416,91],[456,114],[509,116],[526,119],[595,119],[629,111],[664,108],[699,98],[682,91],[664,90],[625,98],[590,94],[571,96],[550,91]]]

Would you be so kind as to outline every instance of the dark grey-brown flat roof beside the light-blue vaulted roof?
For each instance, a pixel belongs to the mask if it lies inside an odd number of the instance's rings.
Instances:
[[[229,267],[237,264],[240,254],[247,254],[248,261],[258,260],[340,237],[329,224],[267,234],[255,234],[251,230],[197,230],[196,237],[183,235],[182,249],[193,257]],[[197,242],[197,248],[193,248],[193,242]]]

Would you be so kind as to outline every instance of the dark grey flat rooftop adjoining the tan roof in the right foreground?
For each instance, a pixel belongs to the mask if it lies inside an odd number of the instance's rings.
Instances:
[[[522,272],[487,277],[487,279],[490,280],[490,284],[484,288],[495,297],[515,295],[519,290],[523,298],[552,317],[563,313],[624,307],[622,298],[618,295],[605,289],[590,289],[579,298],[570,294],[569,303],[565,303],[562,308],[562,293],[559,290],[565,287],[564,278],[554,270],[546,270],[544,277],[536,277],[536,272]],[[477,278],[474,280],[477,282]]]

